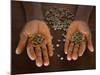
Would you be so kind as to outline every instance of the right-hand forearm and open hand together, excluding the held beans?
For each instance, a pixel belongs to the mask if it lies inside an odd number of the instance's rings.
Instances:
[[[67,39],[64,46],[64,53],[67,54],[67,60],[69,61],[77,60],[78,57],[84,54],[86,48],[88,48],[90,52],[94,51],[91,32],[88,27],[88,20],[91,11],[92,7],[90,6],[79,6],[75,17],[76,20],[73,21],[68,28],[66,33]],[[70,42],[72,34],[76,31],[81,32],[85,38],[85,41],[80,44],[74,44]]]

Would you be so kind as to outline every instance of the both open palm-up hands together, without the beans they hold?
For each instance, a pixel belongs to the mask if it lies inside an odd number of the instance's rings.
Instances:
[[[80,44],[71,42],[72,34],[76,31],[81,32],[86,39]],[[45,36],[45,43],[41,46],[33,47],[32,42],[28,39],[30,34],[36,33],[41,33]],[[48,66],[50,64],[49,57],[52,57],[54,53],[52,39],[53,37],[50,30],[44,21],[30,21],[25,25],[20,34],[20,41],[16,48],[16,54],[21,54],[26,47],[28,57],[32,61],[35,60],[37,67],[41,67],[42,65]],[[67,60],[77,60],[78,57],[83,55],[86,48],[88,48],[90,52],[93,52],[94,49],[91,40],[91,33],[88,25],[83,21],[73,21],[66,32],[64,53],[66,54]]]

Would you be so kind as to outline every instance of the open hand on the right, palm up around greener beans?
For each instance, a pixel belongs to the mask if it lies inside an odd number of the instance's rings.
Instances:
[[[85,41],[82,41],[80,44],[75,44],[71,42],[72,35],[74,32],[80,32],[85,37]],[[82,56],[88,47],[90,52],[93,52],[93,45],[91,41],[91,33],[87,24],[83,21],[73,21],[66,33],[66,41],[64,46],[64,52],[67,54],[67,60],[77,60],[78,56]]]

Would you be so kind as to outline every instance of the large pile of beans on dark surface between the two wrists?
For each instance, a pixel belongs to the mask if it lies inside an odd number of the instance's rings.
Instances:
[[[45,12],[45,20],[54,30],[64,30],[74,20],[74,15],[64,8],[51,8]]]

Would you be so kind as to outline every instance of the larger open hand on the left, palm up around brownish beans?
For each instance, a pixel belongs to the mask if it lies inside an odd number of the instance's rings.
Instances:
[[[40,45],[33,46],[32,40],[29,39],[31,35],[36,35],[38,33],[43,34],[45,41]],[[43,64],[44,66],[49,65],[49,56],[53,56],[53,45],[52,36],[45,22],[34,20],[25,25],[25,28],[20,34],[20,41],[16,48],[16,54],[21,54],[25,45],[27,45],[28,57],[30,60],[35,60],[38,67],[41,67]]]

